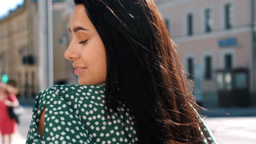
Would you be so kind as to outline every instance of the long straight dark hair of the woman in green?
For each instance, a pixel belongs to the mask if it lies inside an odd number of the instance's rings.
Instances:
[[[130,107],[138,143],[204,143],[192,108],[199,106],[153,0],[74,2],[84,4],[106,48],[106,106]]]

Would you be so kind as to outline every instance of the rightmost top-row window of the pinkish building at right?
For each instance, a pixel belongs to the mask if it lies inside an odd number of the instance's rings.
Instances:
[[[233,27],[233,5],[228,3],[224,6],[224,27],[225,29],[230,29]]]

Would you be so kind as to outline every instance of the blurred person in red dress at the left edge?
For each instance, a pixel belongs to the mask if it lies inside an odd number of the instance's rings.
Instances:
[[[8,136],[8,143],[11,143],[11,135],[17,129],[16,119],[10,118],[8,113],[8,107],[19,106],[19,101],[16,99],[14,93],[14,88],[0,82],[0,131],[3,144],[5,143],[5,135]]]

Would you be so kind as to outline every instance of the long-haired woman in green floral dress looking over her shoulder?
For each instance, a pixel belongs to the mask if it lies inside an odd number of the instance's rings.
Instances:
[[[75,0],[79,85],[36,98],[27,143],[217,143],[152,0]]]

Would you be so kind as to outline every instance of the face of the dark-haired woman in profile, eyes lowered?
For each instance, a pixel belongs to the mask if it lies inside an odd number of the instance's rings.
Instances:
[[[64,56],[73,61],[79,85],[105,83],[107,75],[106,51],[100,35],[86,14],[84,5],[75,6],[70,22],[73,35]]]

